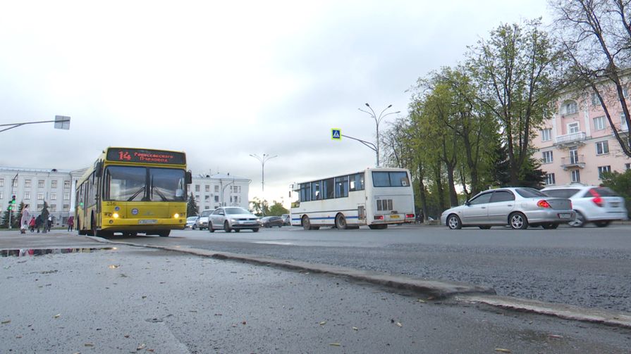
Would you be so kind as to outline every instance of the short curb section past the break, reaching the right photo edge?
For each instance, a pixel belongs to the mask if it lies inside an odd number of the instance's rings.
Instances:
[[[532,312],[550,315],[581,322],[607,324],[608,326],[631,328],[631,313],[620,311],[599,310],[596,308],[580,308],[563,303],[546,303],[526,298],[511,298],[494,295],[457,295],[457,301],[468,303],[485,303],[486,305],[506,308],[509,310]]]

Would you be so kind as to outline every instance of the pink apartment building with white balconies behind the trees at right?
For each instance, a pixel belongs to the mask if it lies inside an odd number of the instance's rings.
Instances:
[[[624,94],[629,97],[626,90]],[[631,158],[625,156],[615,139],[596,94],[567,93],[557,104],[553,118],[544,123],[532,141],[541,158],[541,170],[546,172],[547,185],[598,185],[602,172],[631,169]],[[611,101],[608,109],[615,128],[628,139],[620,101]]]

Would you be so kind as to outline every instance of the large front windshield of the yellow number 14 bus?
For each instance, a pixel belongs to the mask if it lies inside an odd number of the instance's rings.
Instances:
[[[108,166],[105,201],[185,201],[185,172],[175,168]]]

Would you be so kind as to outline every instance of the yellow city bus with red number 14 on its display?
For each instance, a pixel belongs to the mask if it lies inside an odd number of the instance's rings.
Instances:
[[[191,179],[181,151],[107,148],[77,182],[77,230],[169,236],[186,225]]]

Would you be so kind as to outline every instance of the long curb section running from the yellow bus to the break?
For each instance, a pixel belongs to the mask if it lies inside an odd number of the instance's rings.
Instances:
[[[154,246],[147,244],[133,244],[130,242],[114,242],[100,238],[98,241],[103,241],[111,244],[123,244],[127,246],[138,246],[147,248],[158,248],[165,251],[176,251],[189,253],[192,255],[201,255],[209,258],[216,258],[220,260],[237,260],[244,263],[250,263],[255,265],[271,265],[273,267],[281,267],[288,270],[298,270],[300,272],[312,272],[320,274],[331,274],[339,277],[347,277],[359,282],[367,282],[370,284],[376,284],[380,286],[388,286],[394,289],[402,289],[412,291],[427,296],[431,299],[440,299],[453,297],[457,294],[495,294],[495,290],[488,286],[477,286],[461,282],[440,282],[436,280],[422,280],[410,277],[399,277],[379,272],[368,272],[364,270],[355,270],[352,268],[335,267],[331,265],[324,265],[319,263],[306,263],[295,260],[278,260],[276,258],[259,257],[257,255],[247,255],[240,253],[230,252],[216,252],[208,250],[200,250],[197,248],[181,248],[181,247],[169,247],[169,246]]]

